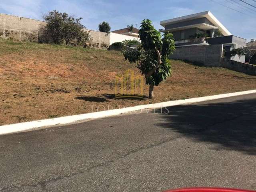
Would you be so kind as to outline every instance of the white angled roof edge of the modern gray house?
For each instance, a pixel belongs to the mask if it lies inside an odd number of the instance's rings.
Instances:
[[[174,24],[178,22],[188,21],[192,19],[198,19],[206,17],[214,26],[218,27],[218,29],[222,32],[224,36],[232,35],[224,25],[221,24],[221,22],[210,12],[210,11],[204,11],[196,14],[186,15],[182,17],[177,17],[173,19],[168,19],[160,22],[160,25],[165,27],[168,24]]]

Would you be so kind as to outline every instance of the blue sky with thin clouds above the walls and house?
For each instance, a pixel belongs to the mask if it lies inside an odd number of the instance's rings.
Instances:
[[[102,21],[110,23],[111,30],[125,28],[128,24],[140,26],[148,18],[156,29],[161,20],[210,10],[234,35],[242,38],[256,38],[256,8],[240,0],[1,0],[0,13],[12,14],[42,20],[50,10],[67,12],[82,17],[82,24],[88,29],[98,30]],[[244,0],[254,6],[253,0]],[[219,3],[243,12],[241,14]]]

